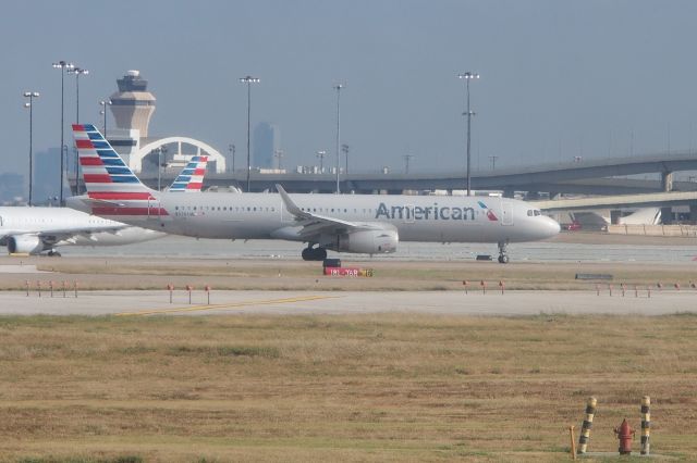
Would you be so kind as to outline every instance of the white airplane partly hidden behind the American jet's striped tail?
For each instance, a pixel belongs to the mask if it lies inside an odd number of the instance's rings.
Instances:
[[[208,157],[193,157],[176,177],[170,191],[197,192]],[[166,234],[101,218],[70,208],[0,208],[0,246],[10,254],[60,256],[60,246],[119,246],[148,241]]]

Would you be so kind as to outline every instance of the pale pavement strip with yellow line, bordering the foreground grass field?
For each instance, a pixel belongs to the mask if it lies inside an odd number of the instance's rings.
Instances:
[[[638,297],[637,297],[638,296]],[[50,297],[36,290],[0,293],[0,315],[220,315],[220,314],[352,314],[423,313],[450,315],[536,315],[536,314],[637,314],[661,315],[697,312],[694,289],[661,292],[634,289],[621,296],[596,291],[506,291],[497,289],[464,291],[81,291],[75,298],[54,291]]]

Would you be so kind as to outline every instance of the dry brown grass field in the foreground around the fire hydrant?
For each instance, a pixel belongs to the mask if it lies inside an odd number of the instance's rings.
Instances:
[[[652,452],[697,460],[696,335],[686,314],[1,317],[0,460],[565,461],[588,396],[610,452],[644,395]]]

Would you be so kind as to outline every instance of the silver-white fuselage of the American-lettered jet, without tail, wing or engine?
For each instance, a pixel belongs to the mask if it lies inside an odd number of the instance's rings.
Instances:
[[[198,238],[306,241],[299,235],[302,226],[277,193],[152,192],[152,196],[155,200],[148,204],[147,214],[120,215],[115,209],[109,216]],[[295,193],[291,198],[303,211],[315,215],[354,224],[393,226],[400,241],[515,242],[545,239],[559,233],[559,224],[539,210],[505,198],[311,193]]]

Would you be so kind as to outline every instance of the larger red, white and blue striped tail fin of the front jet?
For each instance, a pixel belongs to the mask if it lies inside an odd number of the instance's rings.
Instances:
[[[167,215],[156,191],[146,187],[91,124],[73,124],[87,196],[101,216]],[[126,222],[126,221],[124,221]]]

